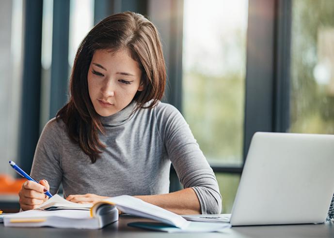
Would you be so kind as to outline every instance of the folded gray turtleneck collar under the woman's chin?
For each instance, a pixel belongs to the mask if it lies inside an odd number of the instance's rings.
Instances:
[[[100,116],[100,120],[103,126],[119,126],[123,125],[127,122],[128,119],[131,118],[133,115],[133,110],[137,106],[136,101],[132,101],[128,104],[125,108],[121,111],[109,116],[109,117],[102,117]]]

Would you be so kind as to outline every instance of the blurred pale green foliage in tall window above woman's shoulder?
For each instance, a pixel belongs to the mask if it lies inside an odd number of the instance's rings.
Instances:
[[[184,75],[184,114],[209,161],[238,163],[242,158],[244,78],[191,71]]]

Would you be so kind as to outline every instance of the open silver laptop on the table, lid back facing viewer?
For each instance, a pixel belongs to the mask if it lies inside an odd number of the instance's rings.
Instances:
[[[192,220],[229,221],[233,226],[323,223],[333,193],[334,135],[258,132],[232,214]]]

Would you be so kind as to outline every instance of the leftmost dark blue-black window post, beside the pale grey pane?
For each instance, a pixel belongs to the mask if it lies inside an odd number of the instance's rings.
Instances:
[[[30,173],[39,138],[43,0],[25,1],[19,164]]]

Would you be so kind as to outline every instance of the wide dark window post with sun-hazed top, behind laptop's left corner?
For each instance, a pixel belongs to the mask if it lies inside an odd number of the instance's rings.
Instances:
[[[275,0],[250,0],[248,10],[244,160],[255,132],[273,131]]]

